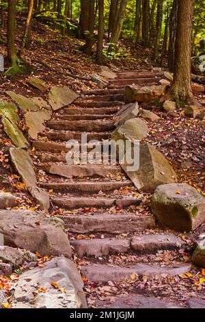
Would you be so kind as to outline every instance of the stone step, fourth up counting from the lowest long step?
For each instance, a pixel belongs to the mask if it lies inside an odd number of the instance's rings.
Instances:
[[[78,208],[111,208],[113,206],[124,209],[130,206],[137,206],[141,203],[137,198],[87,198],[87,197],[55,197],[52,199],[55,206],[66,209],[78,209]]]

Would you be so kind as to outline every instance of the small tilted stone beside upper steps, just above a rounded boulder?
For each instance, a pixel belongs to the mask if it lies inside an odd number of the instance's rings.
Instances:
[[[123,106],[122,108],[120,108],[120,111],[116,114],[117,121],[115,122],[115,127],[119,127],[129,119],[134,119],[135,117],[137,117],[138,112],[139,106],[137,102],[129,103]]]

